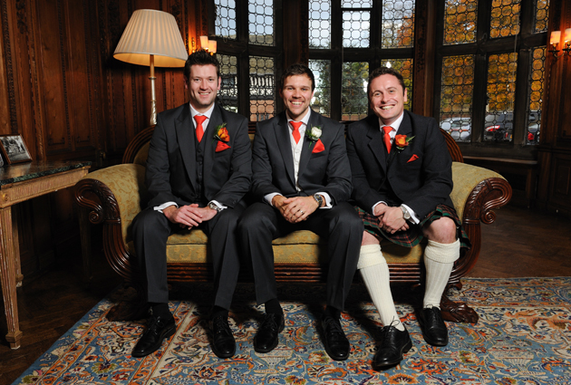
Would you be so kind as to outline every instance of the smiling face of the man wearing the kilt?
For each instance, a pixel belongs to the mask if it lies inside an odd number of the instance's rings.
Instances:
[[[391,125],[401,116],[406,102],[406,89],[402,89],[401,82],[391,74],[378,76],[369,84],[371,110],[384,125]]]

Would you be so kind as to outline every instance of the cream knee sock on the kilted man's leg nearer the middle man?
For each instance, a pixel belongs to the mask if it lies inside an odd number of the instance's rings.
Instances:
[[[357,269],[361,272],[365,286],[384,326],[392,325],[401,332],[404,326],[392,301],[389,265],[381,253],[381,245],[363,245]]]

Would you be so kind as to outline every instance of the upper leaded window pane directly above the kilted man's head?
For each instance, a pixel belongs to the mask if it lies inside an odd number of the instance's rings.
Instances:
[[[382,1],[382,48],[411,47],[414,40],[414,1]]]

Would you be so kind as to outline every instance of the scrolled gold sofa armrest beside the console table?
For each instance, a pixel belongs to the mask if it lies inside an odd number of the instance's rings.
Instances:
[[[131,222],[145,204],[145,168],[121,164],[102,168],[75,185],[75,201],[86,209],[92,224],[103,224],[103,250],[111,267],[127,281],[139,274],[127,248]]]

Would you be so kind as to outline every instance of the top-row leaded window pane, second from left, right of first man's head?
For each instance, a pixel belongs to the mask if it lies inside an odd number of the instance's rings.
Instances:
[[[248,0],[249,42],[274,45],[274,0]]]

